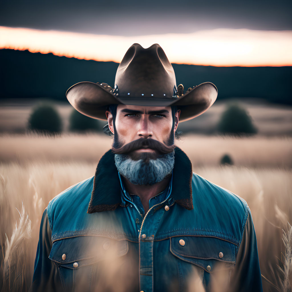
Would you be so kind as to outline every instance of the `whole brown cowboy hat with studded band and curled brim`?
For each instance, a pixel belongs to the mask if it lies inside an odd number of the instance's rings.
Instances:
[[[115,86],[107,83],[79,82],[71,86],[66,97],[81,114],[107,120],[105,111],[111,104],[141,106],[177,106],[180,121],[205,112],[216,100],[218,90],[211,82],[189,88],[176,87],[171,63],[159,44],[143,48],[133,44],[119,64]]]

